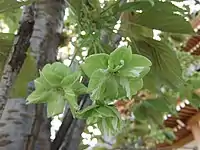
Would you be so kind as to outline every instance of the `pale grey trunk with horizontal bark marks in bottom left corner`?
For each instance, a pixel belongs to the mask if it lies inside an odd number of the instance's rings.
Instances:
[[[34,107],[23,98],[8,100],[0,121],[0,150],[25,150]]]

